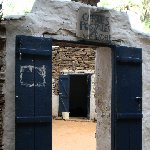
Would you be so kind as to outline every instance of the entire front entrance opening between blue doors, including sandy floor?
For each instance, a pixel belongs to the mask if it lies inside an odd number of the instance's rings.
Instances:
[[[58,108],[58,117],[52,120],[52,149],[96,149],[96,48],[65,41],[53,42],[52,106],[56,115]],[[69,112],[69,119],[63,119],[63,112]]]

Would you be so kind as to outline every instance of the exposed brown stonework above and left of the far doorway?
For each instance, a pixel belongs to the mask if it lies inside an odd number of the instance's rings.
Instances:
[[[53,94],[58,95],[59,75],[68,71],[76,73],[95,70],[95,49],[80,47],[55,47],[52,51]],[[84,71],[83,71],[84,70]]]

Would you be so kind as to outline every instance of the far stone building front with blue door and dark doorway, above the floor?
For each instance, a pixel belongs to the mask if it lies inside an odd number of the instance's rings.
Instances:
[[[96,119],[94,97],[96,48],[83,44],[53,43],[53,118],[60,118],[63,112],[69,112],[71,118]]]

